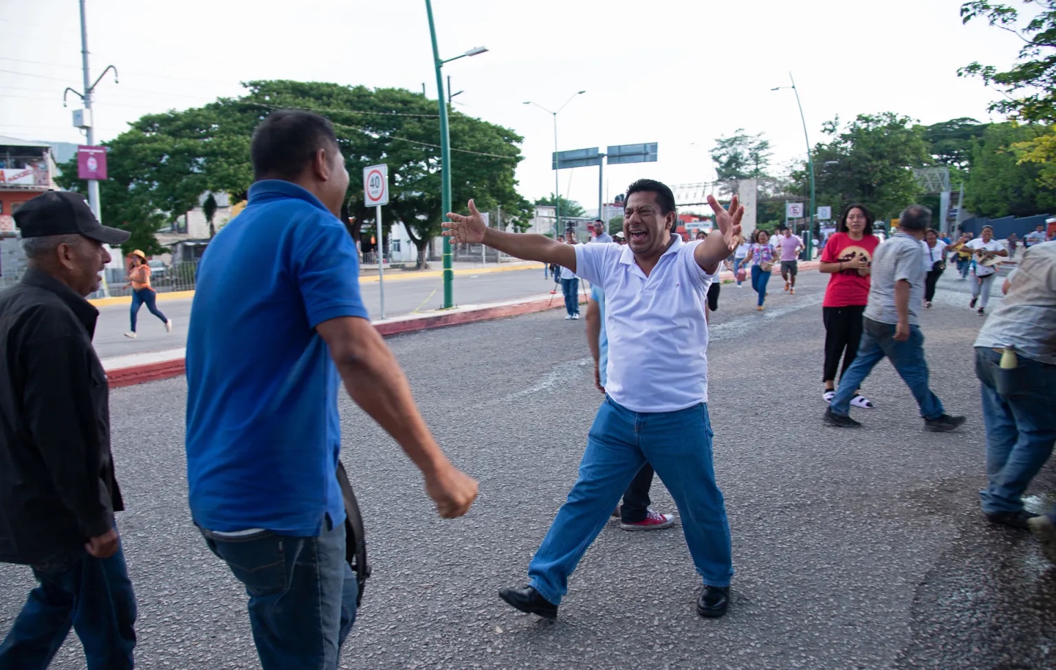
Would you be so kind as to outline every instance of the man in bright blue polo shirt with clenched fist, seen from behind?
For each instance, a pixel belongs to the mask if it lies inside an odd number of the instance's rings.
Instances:
[[[357,595],[336,475],[339,382],[421,470],[441,516],[465,514],[476,482],[433,440],[367,319],[337,218],[348,173],[329,121],[276,112],[250,152],[248,205],[209,244],[191,307],[191,515],[246,587],[264,670],[329,670]]]

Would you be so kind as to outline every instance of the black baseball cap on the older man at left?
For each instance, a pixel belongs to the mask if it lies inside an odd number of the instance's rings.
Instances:
[[[78,234],[119,245],[131,235],[127,230],[100,224],[84,196],[70,191],[48,191],[26,200],[15,212],[15,224],[23,238]]]

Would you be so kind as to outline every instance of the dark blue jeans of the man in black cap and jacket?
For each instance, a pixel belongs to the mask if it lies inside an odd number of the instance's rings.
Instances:
[[[0,670],[43,670],[70,634],[84,648],[89,670],[131,669],[136,606],[125,553],[110,558],[87,553],[35,566],[40,586],[0,645]]]

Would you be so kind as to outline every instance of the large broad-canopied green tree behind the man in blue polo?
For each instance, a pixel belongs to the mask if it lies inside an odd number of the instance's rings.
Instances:
[[[384,214],[401,223],[425,265],[429,242],[440,231],[439,123],[434,101],[402,89],[367,89],[337,83],[251,81],[246,94],[220,98],[202,108],[144,116],[107,142],[110,179],[101,186],[103,217],[132,232],[135,244],[158,252],[154,232],[197,204],[206,191],[245,199],[252,183],[249,140],[276,109],[302,109],[334,123],[352,176],[342,219],[356,242],[374,223],[363,203],[359,175],[371,165],[389,166],[390,205]],[[516,192],[514,169],[521,137],[465,114],[451,115],[454,203],[475,197],[482,208],[502,206],[522,215],[527,204]],[[71,175],[67,188],[83,190]],[[350,221],[351,219],[351,221]],[[383,232],[383,231],[382,231]]]

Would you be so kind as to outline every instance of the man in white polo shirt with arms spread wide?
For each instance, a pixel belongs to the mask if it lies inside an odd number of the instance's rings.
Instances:
[[[709,196],[717,230],[685,243],[675,197],[659,181],[627,189],[623,231],[628,244],[569,246],[543,235],[488,228],[449,213],[453,243],[485,244],[528,261],[555,263],[605,291],[608,336],[606,398],[587,438],[580,476],[528,566],[529,585],[502,589],[512,607],[555,618],[568,576],[604,528],[635,474],[652,463],[678,505],[682,531],[704,588],[701,616],[722,616],[733,577],[730,527],[712,464],[708,417],[708,287],[740,243],[744,208],[730,211]]]

